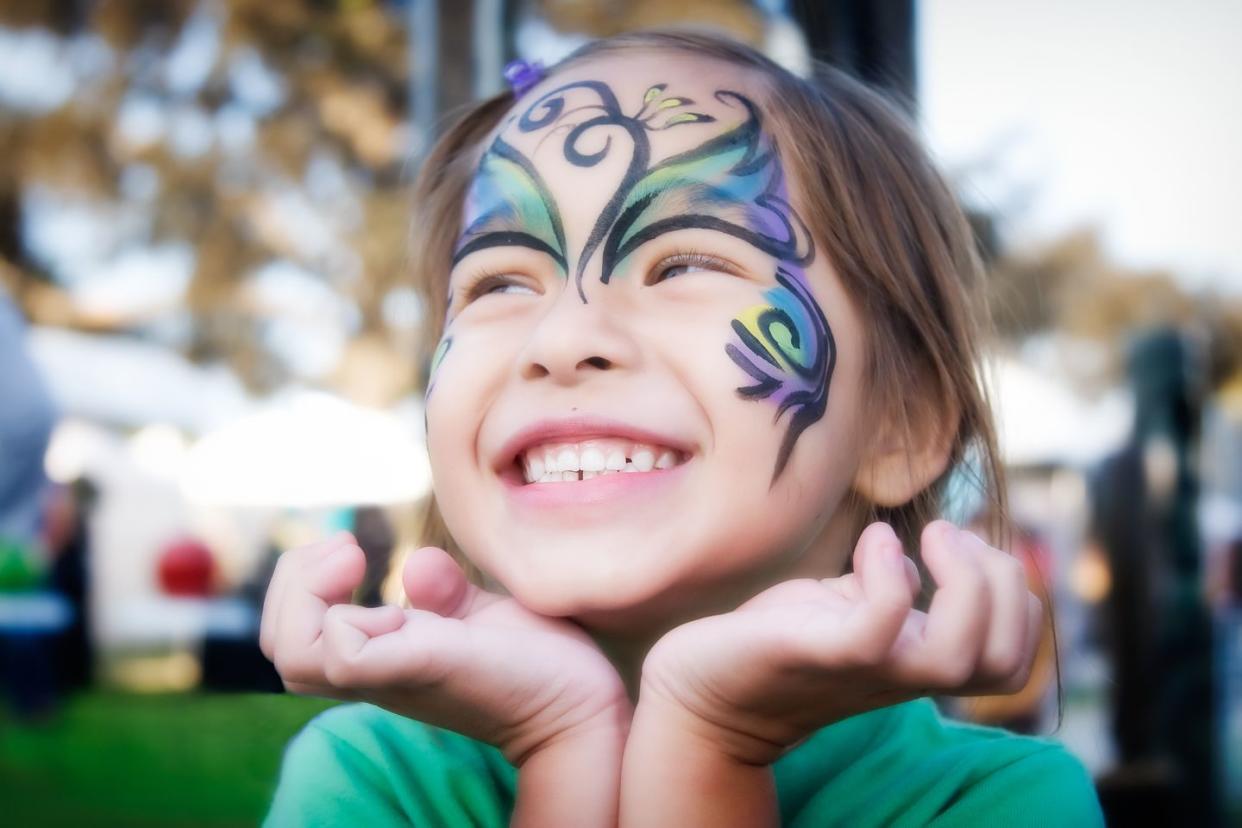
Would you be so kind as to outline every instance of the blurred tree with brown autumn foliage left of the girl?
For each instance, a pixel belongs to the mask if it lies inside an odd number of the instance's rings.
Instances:
[[[256,390],[298,372],[271,346],[282,309],[251,289],[288,262],[356,308],[319,323],[366,336],[388,351],[381,367],[412,377],[409,334],[384,310],[406,254],[405,24],[399,5],[369,0],[4,4],[10,32],[98,60],[56,106],[0,97],[0,276],[37,322],[158,334],[159,318],[79,307],[82,274],[27,243],[34,192],[104,221],[137,214],[107,252],[193,247],[179,344],[194,359],[227,361]]]

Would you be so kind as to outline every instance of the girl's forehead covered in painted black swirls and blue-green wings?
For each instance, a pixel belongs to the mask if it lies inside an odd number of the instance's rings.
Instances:
[[[657,200],[652,215],[705,199],[753,225],[765,187],[787,197],[763,98],[756,73],[693,55],[627,52],[556,72],[481,148],[458,250],[483,230],[528,232],[535,216],[546,247],[571,258],[610,206],[643,197]]]

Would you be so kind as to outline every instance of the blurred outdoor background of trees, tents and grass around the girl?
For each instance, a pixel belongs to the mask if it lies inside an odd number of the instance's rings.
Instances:
[[[351,529],[395,601],[421,531],[420,153],[507,61],[677,22],[883,87],[970,211],[1057,634],[946,709],[1064,741],[1115,824],[1242,822],[1242,5],[0,0],[14,824],[261,818],[330,704],[258,652],[276,559]]]

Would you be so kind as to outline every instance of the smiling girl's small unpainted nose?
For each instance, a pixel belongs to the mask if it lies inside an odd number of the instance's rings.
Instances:
[[[619,315],[604,297],[584,303],[568,286],[537,323],[522,353],[523,379],[575,385],[600,371],[632,369],[638,346]]]

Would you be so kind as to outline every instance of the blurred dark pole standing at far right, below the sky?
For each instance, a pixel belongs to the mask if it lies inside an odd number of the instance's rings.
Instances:
[[[1201,588],[1194,456],[1200,405],[1191,351],[1170,329],[1129,353],[1135,426],[1097,479],[1097,534],[1113,590],[1113,732],[1100,780],[1110,823],[1220,824],[1212,629]]]

